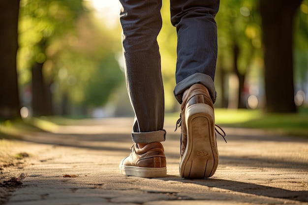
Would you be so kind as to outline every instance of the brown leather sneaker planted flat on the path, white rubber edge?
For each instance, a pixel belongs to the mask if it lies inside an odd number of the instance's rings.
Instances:
[[[161,143],[150,143],[143,148],[131,146],[132,152],[120,163],[122,175],[140,177],[167,176],[166,156]]]

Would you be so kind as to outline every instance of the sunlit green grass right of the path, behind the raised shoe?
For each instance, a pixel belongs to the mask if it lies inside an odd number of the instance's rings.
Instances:
[[[179,114],[167,114],[167,121],[176,121]],[[261,110],[215,109],[216,124],[224,127],[254,128],[283,135],[308,137],[308,109],[296,114],[265,114]]]

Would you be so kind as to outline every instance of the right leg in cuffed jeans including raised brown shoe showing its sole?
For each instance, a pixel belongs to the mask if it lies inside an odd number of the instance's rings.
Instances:
[[[171,0],[171,22],[178,33],[177,85],[181,105],[180,175],[214,175],[218,164],[213,103],[217,58],[214,17],[219,0]]]

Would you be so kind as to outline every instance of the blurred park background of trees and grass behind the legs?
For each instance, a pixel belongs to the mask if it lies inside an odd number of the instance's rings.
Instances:
[[[120,9],[118,0],[2,1],[0,119],[133,117]],[[172,117],[180,106],[173,96],[177,33],[168,0],[161,15],[165,109]],[[264,115],[277,121],[296,114],[286,118],[299,120],[306,133],[308,0],[222,0],[216,22],[217,121],[244,126]]]

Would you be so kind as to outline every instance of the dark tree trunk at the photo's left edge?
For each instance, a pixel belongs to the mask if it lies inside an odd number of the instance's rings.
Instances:
[[[16,69],[19,0],[0,1],[0,119],[20,118]]]

